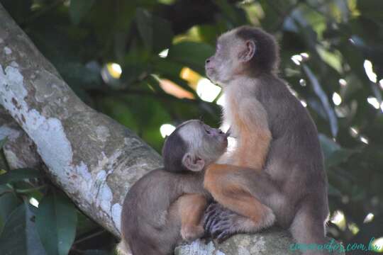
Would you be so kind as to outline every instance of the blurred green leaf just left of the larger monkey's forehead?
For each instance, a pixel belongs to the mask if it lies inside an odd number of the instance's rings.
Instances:
[[[200,74],[205,74],[205,60],[214,54],[214,48],[203,42],[179,42],[170,47],[167,58],[185,64]]]

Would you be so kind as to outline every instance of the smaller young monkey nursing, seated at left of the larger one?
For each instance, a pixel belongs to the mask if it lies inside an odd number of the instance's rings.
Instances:
[[[164,168],[138,180],[121,213],[121,254],[173,254],[182,241],[204,235],[202,217],[207,201],[204,169],[226,152],[227,135],[200,120],[179,125],[162,148]],[[128,245],[126,245],[128,244]]]

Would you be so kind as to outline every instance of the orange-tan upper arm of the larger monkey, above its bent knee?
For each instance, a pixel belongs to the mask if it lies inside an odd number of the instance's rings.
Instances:
[[[272,140],[267,112],[255,98],[245,98],[235,115],[239,139],[233,164],[262,170]]]

